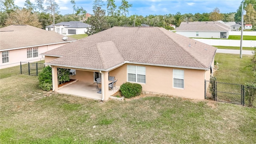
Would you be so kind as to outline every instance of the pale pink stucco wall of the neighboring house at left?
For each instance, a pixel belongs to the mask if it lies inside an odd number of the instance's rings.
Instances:
[[[53,44],[47,46],[38,46],[38,57],[35,58],[27,58],[27,48],[17,49],[17,50],[1,50],[0,52],[0,69],[9,68],[12,66],[20,65],[20,62],[36,62],[40,60],[44,60],[44,56],[42,57],[40,54],[43,52],[47,52],[54,48],[58,48],[69,43],[62,44]],[[31,47],[33,48],[33,47]],[[9,51],[9,62],[2,63],[2,52]]]

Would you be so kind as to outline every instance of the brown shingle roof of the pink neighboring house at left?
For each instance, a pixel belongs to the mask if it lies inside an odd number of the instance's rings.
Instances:
[[[23,48],[29,46],[49,45],[72,42],[77,39],[68,38],[53,31],[46,31],[29,25],[11,25],[0,28],[0,50]]]

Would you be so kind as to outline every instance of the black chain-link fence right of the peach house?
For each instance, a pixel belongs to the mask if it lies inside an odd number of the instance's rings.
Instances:
[[[256,101],[254,104],[252,103],[253,98],[256,98],[256,88],[247,87],[242,84],[210,82],[205,80],[204,97],[219,102],[241,104],[243,106],[256,106]]]

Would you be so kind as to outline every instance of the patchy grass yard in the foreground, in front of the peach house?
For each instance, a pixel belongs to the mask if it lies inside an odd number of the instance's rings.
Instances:
[[[255,108],[153,94],[100,102],[44,92],[36,76],[0,82],[1,144],[256,143]]]

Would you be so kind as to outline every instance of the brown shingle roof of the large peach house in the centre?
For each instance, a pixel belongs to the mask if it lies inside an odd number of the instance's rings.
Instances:
[[[72,51],[71,51],[72,50]],[[209,69],[216,48],[158,27],[113,27],[43,53],[53,66],[110,70],[124,63]]]

